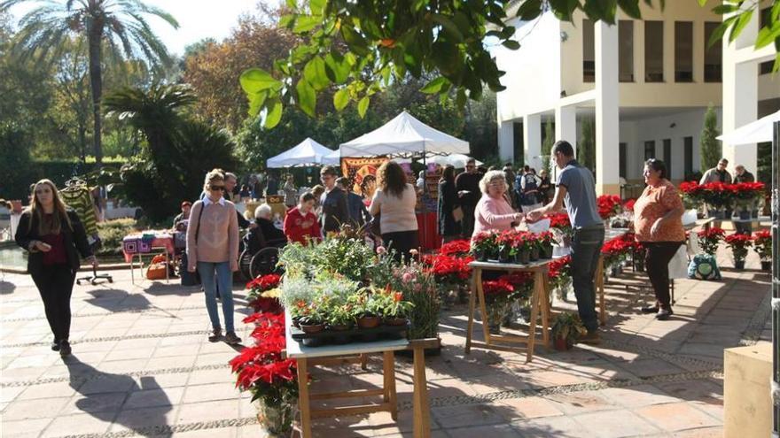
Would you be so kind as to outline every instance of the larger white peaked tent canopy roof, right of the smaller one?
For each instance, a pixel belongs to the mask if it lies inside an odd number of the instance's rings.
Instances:
[[[341,157],[468,154],[469,142],[433,129],[403,111],[384,126],[341,143],[339,151]]]

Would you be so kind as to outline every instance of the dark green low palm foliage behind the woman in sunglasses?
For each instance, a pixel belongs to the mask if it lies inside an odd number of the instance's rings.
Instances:
[[[198,199],[203,177],[214,167],[238,168],[230,134],[187,117],[195,101],[182,85],[153,84],[105,96],[108,116],[128,121],[144,136],[140,154],[121,176],[129,201],[152,220],[172,215],[183,200]]]

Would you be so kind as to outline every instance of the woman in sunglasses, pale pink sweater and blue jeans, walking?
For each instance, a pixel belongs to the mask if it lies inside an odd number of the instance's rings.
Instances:
[[[213,334],[210,342],[222,337],[215,296],[215,281],[219,281],[222,314],[225,319],[225,342],[241,342],[233,326],[233,273],[238,271],[238,218],[236,206],[222,197],[225,175],[220,169],[206,174],[204,190],[207,196],[192,205],[187,227],[187,270],[198,270],[206,292],[206,310]],[[216,280],[214,280],[216,276]]]

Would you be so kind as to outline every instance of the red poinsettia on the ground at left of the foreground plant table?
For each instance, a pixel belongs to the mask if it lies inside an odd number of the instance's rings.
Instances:
[[[246,347],[230,360],[237,374],[236,387],[250,391],[252,400],[269,406],[295,403],[298,398],[297,369],[294,359],[282,357],[285,350],[285,315],[273,312],[255,313],[246,319],[255,328],[254,345]]]

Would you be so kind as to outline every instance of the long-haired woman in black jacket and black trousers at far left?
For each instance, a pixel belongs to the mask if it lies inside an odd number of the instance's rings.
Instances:
[[[49,180],[35,183],[30,206],[22,212],[16,229],[16,243],[29,251],[27,272],[43,298],[46,319],[54,334],[51,350],[62,356],[70,354],[70,296],[76,272],[81,266],[79,255],[93,266],[92,255],[82,222],[63,204],[57,188]]]

